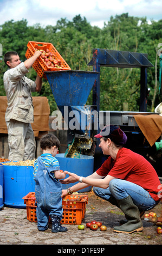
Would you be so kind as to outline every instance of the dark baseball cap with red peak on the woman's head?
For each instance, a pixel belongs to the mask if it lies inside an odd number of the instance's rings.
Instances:
[[[117,145],[124,145],[127,142],[127,136],[118,126],[106,125],[103,129],[95,135],[96,138],[110,138]]]

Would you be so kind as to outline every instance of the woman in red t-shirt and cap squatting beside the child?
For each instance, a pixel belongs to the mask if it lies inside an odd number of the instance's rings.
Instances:
[[[113,231],[141,231],[140,216],[154,208],[162,197],[158,175],[143,156],[123,148],[127,137],[119,127],[107,125],[95,137],[100,138],[99,147],[104,155],[109,155],[108,159],[86,178],[67,172],[69,178],[63,184],[80,183],[63,190],[62,197],[92,185],[97,196],[118,206],[125,214],[127,221]]]

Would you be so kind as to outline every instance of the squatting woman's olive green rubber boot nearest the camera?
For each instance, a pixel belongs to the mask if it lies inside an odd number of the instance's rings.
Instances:
[[[118,227],[114,227],[113,231],[118,233],[133,233],[134,231],[142,231],[143,225],[140,218],[140,212],[133,203],[130,196],[118,200],[119,208],[124,212],[127,222]]]

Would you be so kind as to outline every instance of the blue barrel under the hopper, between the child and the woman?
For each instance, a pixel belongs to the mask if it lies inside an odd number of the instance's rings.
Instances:
[[[71,158],[71,157],[64,157],[64,154],[57,154],[55,157],[59,161],[61,170],[67,170],[68,172],[75,173],[83,177],[93,174],[93,166],[94,166],[93,156],[80,155],[80,158]],[[68,178],[68,176],[69,175],[67,174],[66,178]],[[62,189],[66,190],[68,187],[72,187],[77,183],[78,182],[70,183],[70,184],[62,184]],[[89,186],[77,192],[87,192],[87,191],[90,191],[91,188],[92,186]]]

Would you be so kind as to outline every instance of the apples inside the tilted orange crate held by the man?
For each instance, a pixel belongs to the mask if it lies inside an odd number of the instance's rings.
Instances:
[[[55,59],[54,54],[52,52],[50,52],[48,48],[46,49],[46,51],[42,50],[42,49],[39,50],[37,48],[35,48],[35,50],[42,52],[41,58],[50,68],[56,68],[56,69],[64,68],[64,66],[61,63],[61,60]]]

